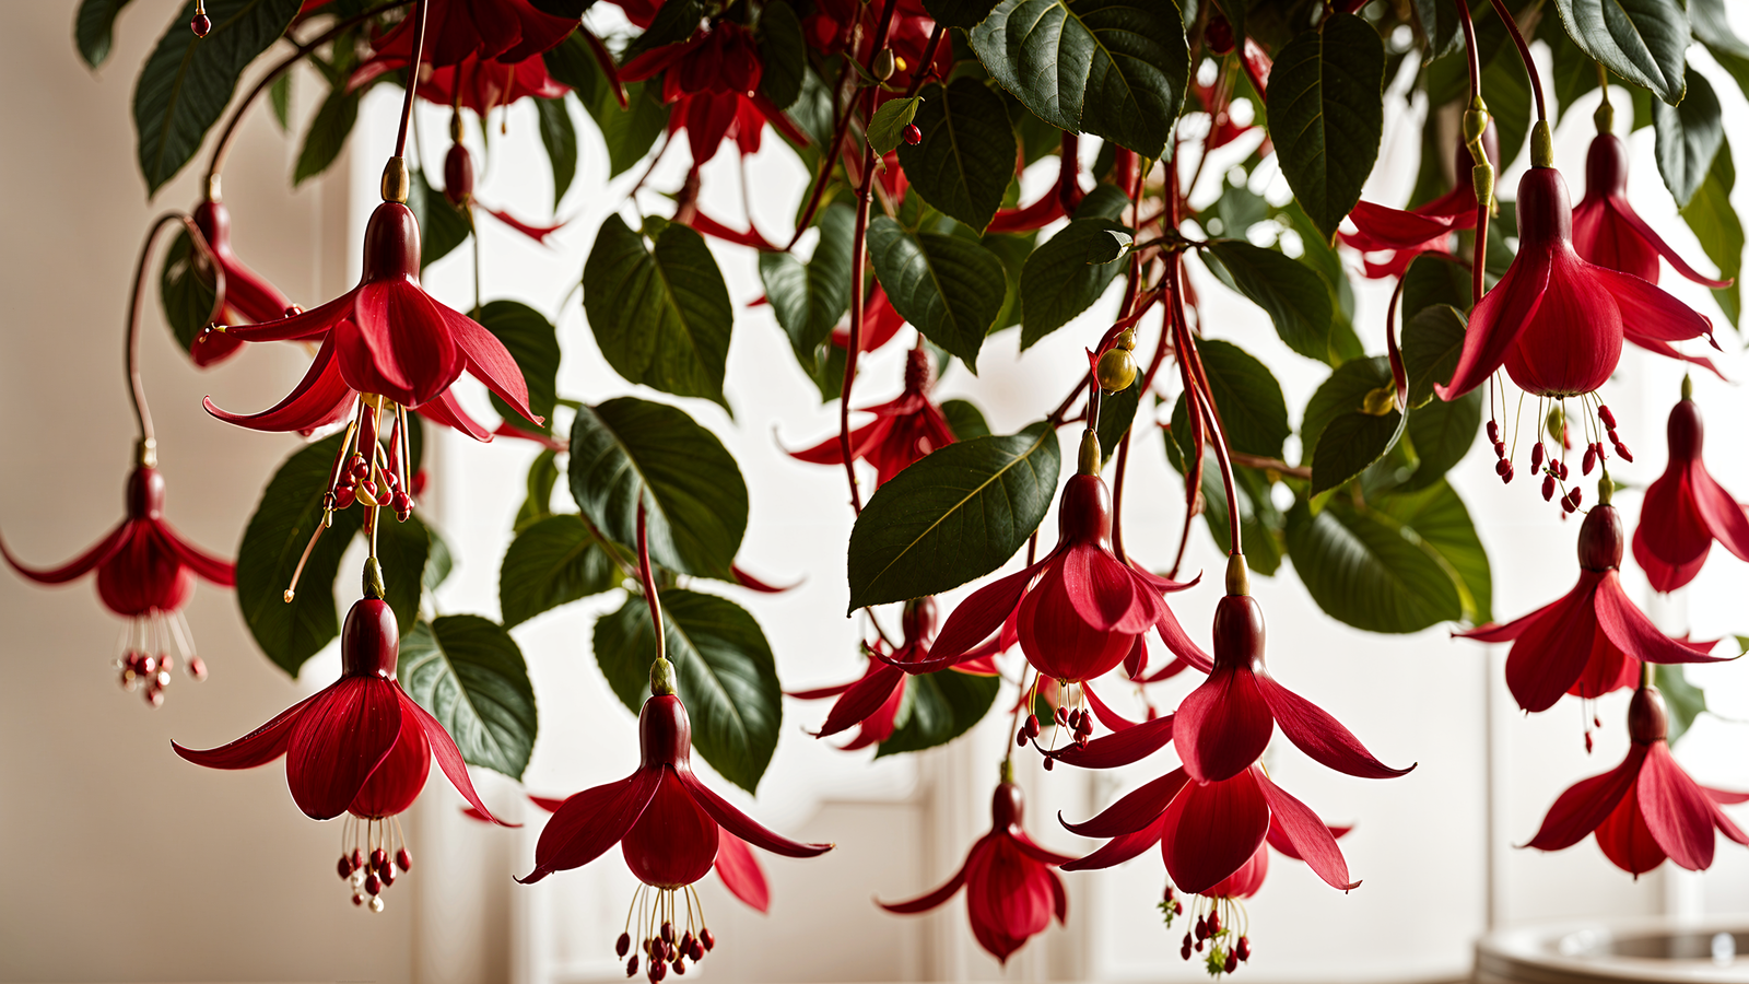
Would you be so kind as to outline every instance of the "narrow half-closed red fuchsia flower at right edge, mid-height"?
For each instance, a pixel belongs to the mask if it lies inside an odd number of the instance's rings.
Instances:
[[[1665,427],[1670,460],[1663,474],[1646,488],[1646,504],[1634,531],[1634,560],[1660,592],[1674,592],[1693,581],[1707,562],[1714,539],[1749,560],[1749,517],[1700,459],[1705,429],[1690,387],[1683,380],[1683,399],[1670,408]]]

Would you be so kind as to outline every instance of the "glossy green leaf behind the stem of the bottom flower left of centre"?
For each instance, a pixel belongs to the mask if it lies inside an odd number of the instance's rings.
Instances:
[[[693,748],[724,779],[757,791],[784,721],[784,693],[771,646],[752,615],[729,599],[661,592],[675,690],[693,720]],[[649,697],[656,634],[638,595],[595,623],[595,660],[631,713]]]

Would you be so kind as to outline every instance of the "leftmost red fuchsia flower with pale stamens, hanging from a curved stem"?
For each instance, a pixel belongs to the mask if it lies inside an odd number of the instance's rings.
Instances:
[[[164,702],[164,686],[177,660],[194,679],[206,679],[206,664],[194,651],[194,634],[182,608],[194,594],[194,578],[229,588],[236,567],[182,538],[164,520],[164,476],[142,464],[128,476],[128,517],[79,557],[59,567],[28,567],[0,539],[0,555],[19,576],[38,585],[65,585],[98,573],[103,606],[128,620],[121,634],[121,685],[142,690],[145,702]]]

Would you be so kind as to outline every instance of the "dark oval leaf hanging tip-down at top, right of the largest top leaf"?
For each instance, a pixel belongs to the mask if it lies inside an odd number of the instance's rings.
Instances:
[[[1270,70],[1270,137],[1287,187],[1326,238],[1361,200],[1385,126],[1385,46],[1354,14],[1301,32]]]

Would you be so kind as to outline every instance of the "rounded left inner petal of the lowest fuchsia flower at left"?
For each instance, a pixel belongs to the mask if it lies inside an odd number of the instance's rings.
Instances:
[[[343,676],[317,693],[285,749],[292,800],[315,819],[346,812],[401,735],[401,690],[378,678]]]

